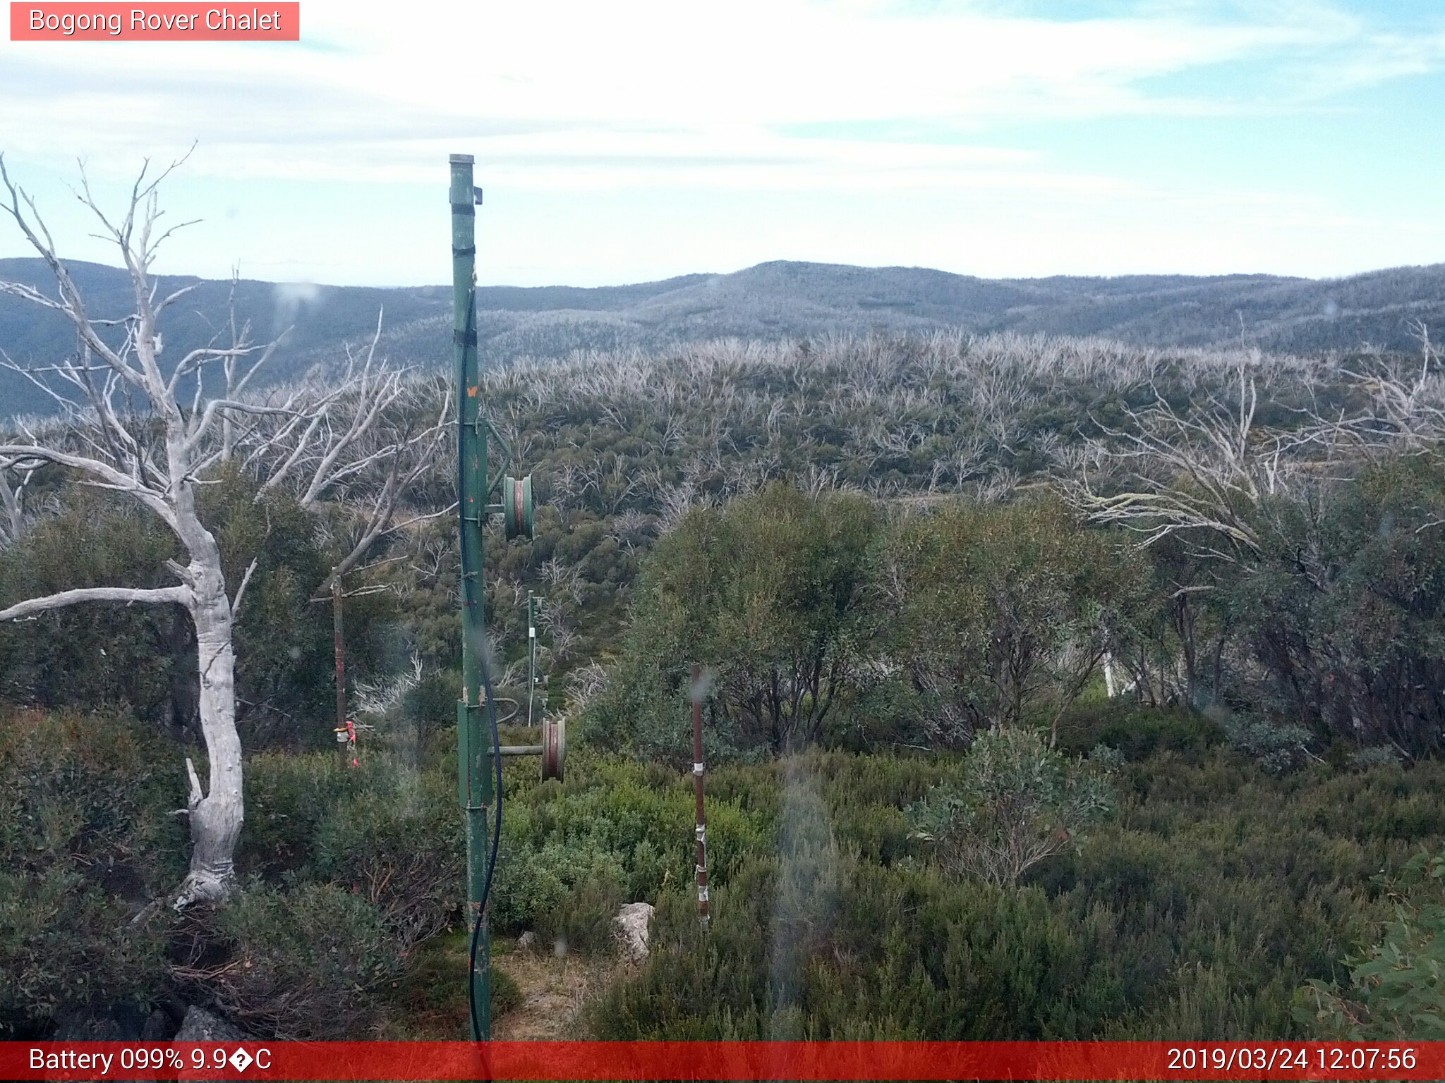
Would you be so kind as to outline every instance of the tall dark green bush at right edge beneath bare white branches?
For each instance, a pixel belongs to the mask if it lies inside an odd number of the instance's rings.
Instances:
[[[1311,500],[1267,500],[1259,559],[1225,596],[1261,673],[1238,695],[1321,735],[1441,749],[1442,516],[1438,455],[1381,459]]]

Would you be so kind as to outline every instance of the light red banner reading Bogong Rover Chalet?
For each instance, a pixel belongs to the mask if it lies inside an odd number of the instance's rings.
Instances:
[[[12,42],[299,42],[301,3],[10,3]]]

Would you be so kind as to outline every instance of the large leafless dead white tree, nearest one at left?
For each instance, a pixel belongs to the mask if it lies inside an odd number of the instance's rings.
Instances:
[[[210,786],[202,790],[195,765],[186,758],[192,852],[189,875],[176,897],[176,905],[182,907],[227,894],[234,877],[231,855],[243,820],[241,744],[236,734],[236,658],[231,647],[241,589],[237,589],[236,598],[227,591],[221,550],[201,521],[195,495],[201,475],[218,458],[208,442],[217,417],[253,407],[227,400],[212,400],[201,407],[199,380],[192,409],[184,409],[178,400],[179,383],[186,374],[197,373],[210,361],[236,355],[233,348],[195,349],[169,375],[160,367],[159,318],[186,292],[159,297],[150,279],[158,247],[179,228],[160,230],[162,211],[156,199],[158,186],[176,165],[179,162],[147,180],[147,163],[131,188],[124,217],[114,221],[82,180],[78,196],[100,221],[103,235],[117,245],[133,287],[134,309],[121,319],[101,321],[87,310],[35,201],[12,182],[0,159],[4,209],[49,267],[56,295],[16,282],[0,282],[0,292],[62,315],[74,326],[79,342],[75,355],[48,370],[25,370],[58,401],[72,404],[68,407],[72,423],[64,430],[69,439],[30,442],[33,433],[26,432],[20,440],[0,443],[0,466],[26,471],[53,464],[74,471],[84,484],[121,492],[165,523],[186,557],[184,565],[168,562],[179,580],[173,586],[62,591],[0,609],[0,619],[13,621],[84,602],[181,605],[191,615],[198,644],[201,732]],[[103,335],[103,329],[113,334]],[[127,412],[123,417],[117,401],[121,393],[142,400],[144,412]]]

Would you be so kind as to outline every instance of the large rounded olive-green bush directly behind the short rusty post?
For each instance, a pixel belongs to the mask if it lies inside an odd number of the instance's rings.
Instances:
[[[587,738],[691,762],[688,664],[705,658],[709,761],[816,742],[863,657],[880,523],[861,497],[780,484],[691,511],[647,562]]]

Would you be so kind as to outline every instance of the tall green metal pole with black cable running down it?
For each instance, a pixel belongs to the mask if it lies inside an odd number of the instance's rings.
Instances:
[[[490,734],[483,725],[487,618],[481,531],[487,520],[487,432],[477,360],[477,189],[473,156],[451,156],[452,341],[457,373],[457,501],[461,530],[462,689],[457,705],[457,790],[467,816],[467,917],[480,921],[474,959],[478,1037],[491,1038],[491,940],[481,894],[487,879],[487,814],[493,799]]]

